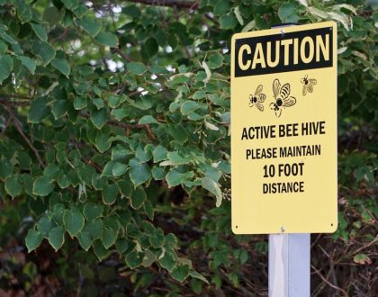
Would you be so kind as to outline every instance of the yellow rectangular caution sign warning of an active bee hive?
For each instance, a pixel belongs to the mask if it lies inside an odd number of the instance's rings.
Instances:
[[[233,232],[335,231],[337,24],[238,33],[231,54]]]

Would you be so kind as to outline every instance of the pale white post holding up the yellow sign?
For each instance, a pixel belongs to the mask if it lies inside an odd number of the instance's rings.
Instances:
[[[269,234],[269,297],[310,297],[310,233]]]

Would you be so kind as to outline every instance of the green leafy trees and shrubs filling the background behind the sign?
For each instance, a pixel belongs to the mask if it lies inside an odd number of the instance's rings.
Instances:
[[[0,0],[0,296],[266,295],[267,237],[230,231],[229,41],[324,20],[339,226],[311,235],[311,293],[376,296],[376,8]]]

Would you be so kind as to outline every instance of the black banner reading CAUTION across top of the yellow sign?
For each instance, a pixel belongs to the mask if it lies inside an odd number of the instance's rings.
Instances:
[[[332,27],[235,40],[235,76],[333,66]]]

